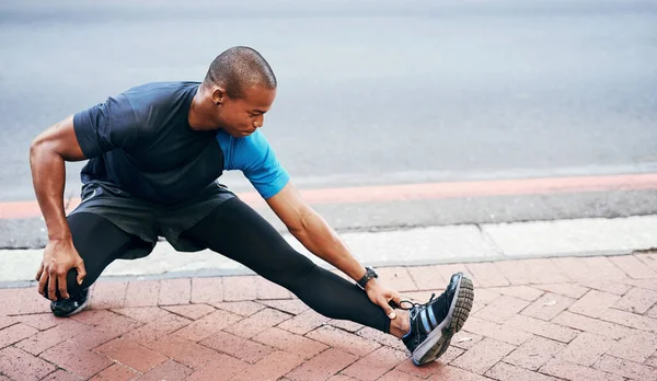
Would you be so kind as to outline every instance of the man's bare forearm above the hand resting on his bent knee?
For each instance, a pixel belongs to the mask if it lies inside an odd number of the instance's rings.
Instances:
[[[30,149],[34,193],[46,220],[48,239],[68,239],[71,232],[64,209],[66,164],[64,158],[47,146],[37,139]]]

